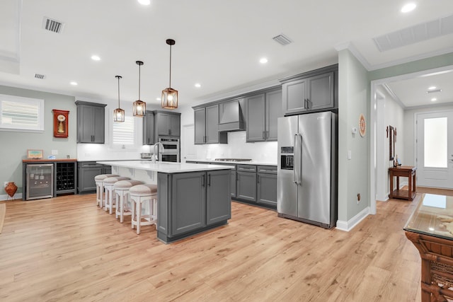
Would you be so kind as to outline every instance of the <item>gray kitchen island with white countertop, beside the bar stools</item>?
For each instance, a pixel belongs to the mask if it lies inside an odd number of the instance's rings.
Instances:
[[[98,161],[112,173],[157,185],[157,238],[164,243],[222,226],[231,218],[226,165]]]

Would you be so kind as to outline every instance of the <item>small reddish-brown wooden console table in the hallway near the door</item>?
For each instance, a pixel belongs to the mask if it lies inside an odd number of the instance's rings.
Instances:
[[[415,189],[415,170],[417,168],[409,165],[401,165],[396,168],[389,168],[390,173],[390,194],[389,198],[413,200],[417,190]],[[396,188],[394,189],[394,177],[396,177]],[[408,190],[399,189],[399,178],[408,178]]]

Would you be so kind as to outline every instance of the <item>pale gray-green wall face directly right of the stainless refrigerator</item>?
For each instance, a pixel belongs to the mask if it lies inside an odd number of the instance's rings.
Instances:
[[[338,64],[338,220],[348,221],[369,206],[369,124],[365,137],[351,131],[361,113],[369,122],[369,80],[349,50],[338,52]]]

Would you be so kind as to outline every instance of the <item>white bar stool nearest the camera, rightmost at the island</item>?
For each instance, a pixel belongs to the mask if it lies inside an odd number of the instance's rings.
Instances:
[[[129,189],[129,194],[132,204],[131,227],[137,226],[137,234],[139,234],[140,226],[150,226],[157,222],[157,186],[134,185]],[[142,215],[143,202],[149,202],[149,214]],[[149,221],[142,221],[142,218]]]

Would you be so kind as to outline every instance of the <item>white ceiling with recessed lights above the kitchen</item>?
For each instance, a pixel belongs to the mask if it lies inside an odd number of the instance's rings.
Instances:
[[[150,6],[136,0],[1,0],[0,84],[116,100],[120,75],[121,101],[132,102],[138,98],[135,61],[142,60],[141,99],[159,104],[156,98],[168,87],[165,41],[173,38],[171,86],[180,105],[195,105],[335,64],[338,45],[350,45],[369,70],[453,52],[452,34],[377,50],[373,37],[453,15],[452,0],[414,1],[415,11],[403,14],[406,1],[399,0],[151,0]],[[44,17],[64,23],[62,33],[42,29]],[[293,43],[273,41],[280,33]],[[391,88],[398,95],[400,86]]]

